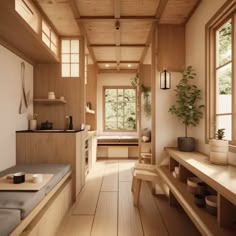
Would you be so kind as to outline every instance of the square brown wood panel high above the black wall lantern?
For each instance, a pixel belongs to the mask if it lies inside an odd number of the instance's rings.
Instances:
[[[157,69],[179,72],[185,67],[185,26],[158,25]]]

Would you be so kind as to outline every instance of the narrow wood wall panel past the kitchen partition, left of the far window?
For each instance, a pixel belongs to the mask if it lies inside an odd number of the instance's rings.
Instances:
[[[88,78],[86,88],[86,103],[90,102],[95,114],[86,113],[86,124],[91,125],[91,130],[97,129],[97,68],[88,65]]]

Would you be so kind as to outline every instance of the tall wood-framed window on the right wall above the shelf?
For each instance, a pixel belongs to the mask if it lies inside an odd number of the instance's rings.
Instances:
[[[227,2],[206,25],[206,139],[225,129],[236,145],[236,4]]]

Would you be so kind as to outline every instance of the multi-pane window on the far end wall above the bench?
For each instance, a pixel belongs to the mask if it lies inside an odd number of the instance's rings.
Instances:
[[[104,87],[104,130],[136,131],[136,90]]]

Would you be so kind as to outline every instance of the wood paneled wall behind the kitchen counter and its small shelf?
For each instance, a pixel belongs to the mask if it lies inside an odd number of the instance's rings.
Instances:
[[[56,97],[64,96],[66,104],[45,105],[34,103],[34,112],[38,114],[37,123],[46,120],[53,122],[54,129],[65,129],[65,116],[73,116],[74,129],[80,128],[84,114],[82,78],[61,78],[60,64],[39,64],[35,66],[34,98],[47,98],[48,92],[55,92]]]

